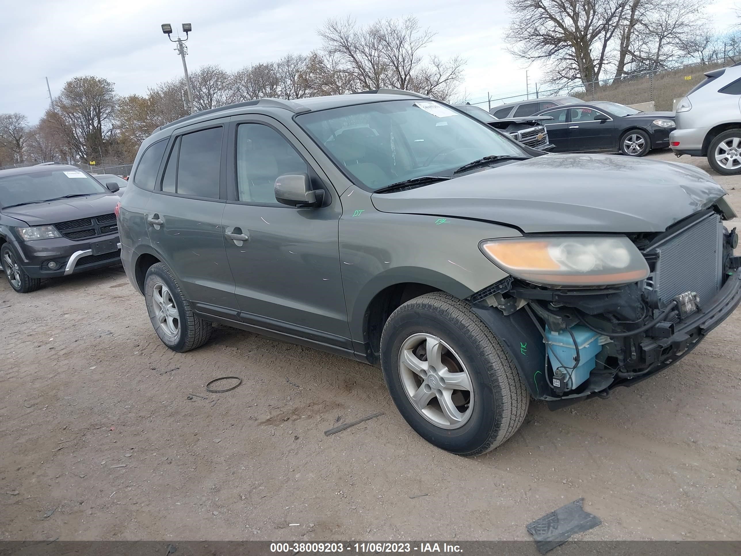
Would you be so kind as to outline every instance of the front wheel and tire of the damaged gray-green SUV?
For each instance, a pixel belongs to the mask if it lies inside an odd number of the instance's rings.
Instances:
[[[383,328],[386,385],[407,423],[429,443],[462,456],[505,442],[530,398],[514,362],[471,308],[436,292],[393,311]]]

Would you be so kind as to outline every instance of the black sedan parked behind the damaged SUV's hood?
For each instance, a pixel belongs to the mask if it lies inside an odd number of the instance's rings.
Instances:
[[[674,112],[641,112],[617,102],[594,101],[541,110],[556,153],[615,153],[645,156],[668,148]]]

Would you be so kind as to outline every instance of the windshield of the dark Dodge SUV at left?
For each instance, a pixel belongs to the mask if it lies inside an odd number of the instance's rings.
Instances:
[[[95,193],[109,191],[79,170],[30,172],[0,178],[0,205],[3,207]]]

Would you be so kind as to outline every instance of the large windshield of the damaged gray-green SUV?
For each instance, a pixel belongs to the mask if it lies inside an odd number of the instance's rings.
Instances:
[[[528,156],[487,125],[433,101],[396,100],[311,112],[296,122],[371,190],[420,176],[452,176],[483,156]]]

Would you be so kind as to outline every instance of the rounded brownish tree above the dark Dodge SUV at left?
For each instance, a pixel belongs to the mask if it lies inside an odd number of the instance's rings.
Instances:
[[[107,79],[75,77],[64,84],[44,119],[74,156],[102,158],[109,148],[117,102]]]

